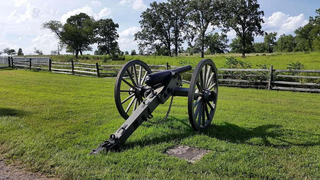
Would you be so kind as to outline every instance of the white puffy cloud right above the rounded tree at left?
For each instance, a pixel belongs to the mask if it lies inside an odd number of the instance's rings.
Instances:
[[[88,5],[86,5],[85,7],[83,8],[80,8],[80,9],[75,9],[73,11],[69,11],[67,12],[66,14],[63,14],[62,17],[61,17],[61,22],[62,23],[66,23],[67,22],[67,19],[70,17],[70,16],[73,16],[73,15],[76,15],[76,14],[79,14],[80,12],[83,12],[83,13],[86,13],[88,14],[89,16],[93,16],[94,19],[100,19],[102,17],[107,17],[107,16],[110,16],[111,15],[111,10],[109,8],[103,8],[98,14],[94,13],[92,8],[89,7]]]

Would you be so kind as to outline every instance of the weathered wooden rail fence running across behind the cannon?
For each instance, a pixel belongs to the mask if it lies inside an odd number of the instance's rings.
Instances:
[[[51,61],[50,57],[6,57],[4,66],[5,63],[8,63],[8,67],[44,69],[53,73],[101,78],[116,77],[122,67],[122,65],[85,64],[74,61],[55,62]],[[180,67],[170,66],[168,63],[148,66],[153,72]],[[275,70],[273,66],[270,66],[270,69],[218,69],[219,86],[308,92],[320,92],[319,73],[320,70]],[[192,71],[185,73],[183,82],[190,83],[191,76]]]

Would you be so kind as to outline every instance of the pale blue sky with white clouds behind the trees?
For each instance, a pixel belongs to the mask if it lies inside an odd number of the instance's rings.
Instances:
[[[138,52],[133,35],[141,30],[140,15],[151,2],[153,0],[1,0],[0,50],[9,47],[18,51],[21,48],[28,55],[33,54],[36,47],[44,54],[50,54],[58,49],[58,40],[48,29],[42,29],[42,24],[50,20],[64,23],[70,16],[84,12],[96,20],[111,18],[118,23],[120,50]],[[314,17],[316,9],[320,8],[319,0],[258,0],[258,4],[265,14],[262,30],[277,32],[278,37],[294,35],[294,30],[306,25],[309,16]],[[234,31],[227,35],[229,39],[236,37]],[[255,42],[261,41],[263,37],[255,38]],[[92,47],[93,51],[97,49],[96,44]],[[187,44],[183,45],[184,49],[187,47]],[[86,53],[93,54],[93,51]],[[65,54],[64,50],[62,54]]]

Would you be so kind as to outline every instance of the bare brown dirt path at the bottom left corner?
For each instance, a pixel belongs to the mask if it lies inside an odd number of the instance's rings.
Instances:
[[[22,166],[5,162],[5,159],[0,159],[0,180],[56,180],[56,178],[32,173]]]

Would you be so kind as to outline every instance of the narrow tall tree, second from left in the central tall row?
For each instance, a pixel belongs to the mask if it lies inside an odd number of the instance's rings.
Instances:
[[[186,18],[190,12],[188,8],[189,0],[168,0],[170,9],[172,42],[174,45],[174,54],[178,56],[178,49],[190,34],[190,24]],[[182,33],[184,36],[182,36]]]

